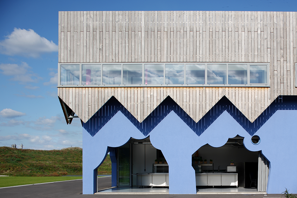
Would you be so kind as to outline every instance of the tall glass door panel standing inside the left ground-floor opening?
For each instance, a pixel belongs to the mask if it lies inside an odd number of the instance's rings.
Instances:
[[[118,152],[118,186],[131,186],[131,144],[119,147]]]

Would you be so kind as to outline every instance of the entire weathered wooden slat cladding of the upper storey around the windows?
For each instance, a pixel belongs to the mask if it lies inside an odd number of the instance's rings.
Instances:
[[[112,95],[138,121],[167,95],[195,121],[224,95],[254,121],[277,96],[297,95],[296,21],[296,12],[59,12],[59,63],[269,62],[270,88],[59,88],[58,93],[84,122]]]

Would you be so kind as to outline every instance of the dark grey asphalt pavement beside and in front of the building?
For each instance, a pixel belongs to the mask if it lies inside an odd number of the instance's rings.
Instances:
[[[111,177],[98,178],[98,189],[111,186]],[[71,180],[29,186],[18,186],[0,189],[1,198],[277,198],[281,194],[91,194],[83,195],[83,180]]]

